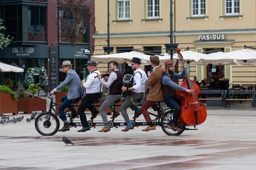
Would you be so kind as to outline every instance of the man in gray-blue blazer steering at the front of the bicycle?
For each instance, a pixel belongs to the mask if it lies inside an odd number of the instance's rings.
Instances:
[[[83,94],[80,78],[76,71],[72,70],[72,64],[70,63],[70,61],[63,61],[61,66],[63,72],[67,73],[66,78],[58,87],[54,88],[54,90],[52,90],[50,93],[54,94],[58,90],[68,85],[68,95],[62,96],[62,98],[60,99],[62,104],[58,108],[61,119],[64,123],[64,126],[58,131],[64,132],[69,131],[68,120],[64,109],[66,107],[69,107],[73,102],[78,102],[82,98]]]

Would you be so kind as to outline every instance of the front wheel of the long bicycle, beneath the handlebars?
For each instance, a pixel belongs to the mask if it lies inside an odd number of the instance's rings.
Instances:
[[[36,131],[43,136],[51,136],[57,133],[60,128],[60,121],[54,113],[45,111],[40,113],[35,119]]]

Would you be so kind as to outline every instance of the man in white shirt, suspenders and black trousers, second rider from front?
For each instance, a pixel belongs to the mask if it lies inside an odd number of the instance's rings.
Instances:
[[[98,78],[94,78],[94,76],[97,76],[97,74],[101,74],[97,70],[96,65],[98,64],[96,64],[96,61],[88,60],[87,64],[85,65],[87,66],[90,74],[87,76],[86,80],[82,80],[82,86],[84,86],[84,88],[86,89],[86,96],[84,96],[80,106],[78,107],[78,113],[83,126],[83,128],[81,130],[78,130],[78,132],[85,132],[90,130],[84,111],[87,108],[92,111],[92,103],[95,100],[100,99],[102,92],[102,85],[100,83],[100,80]]]

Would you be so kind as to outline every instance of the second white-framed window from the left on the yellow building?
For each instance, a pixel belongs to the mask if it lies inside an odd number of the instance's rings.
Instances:
[[[159,18],[159,0],[147,0],[147,18]]]

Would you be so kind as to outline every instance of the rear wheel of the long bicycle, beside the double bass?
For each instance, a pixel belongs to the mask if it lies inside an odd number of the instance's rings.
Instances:
[[[173,131],[172,130],[172,111],[167,111],[166,113],[164,113],[162,115],[162,119],[161,119],[161,127],[162,130],[164,131],[164,133],[166,133],[166,135],[172,135],[172,136],[178,136],[180,134],[183,133],[184,130],[182,131]],[[179,123],[178,126],[180,127],[180,129],[182,129],[182,124]]]

